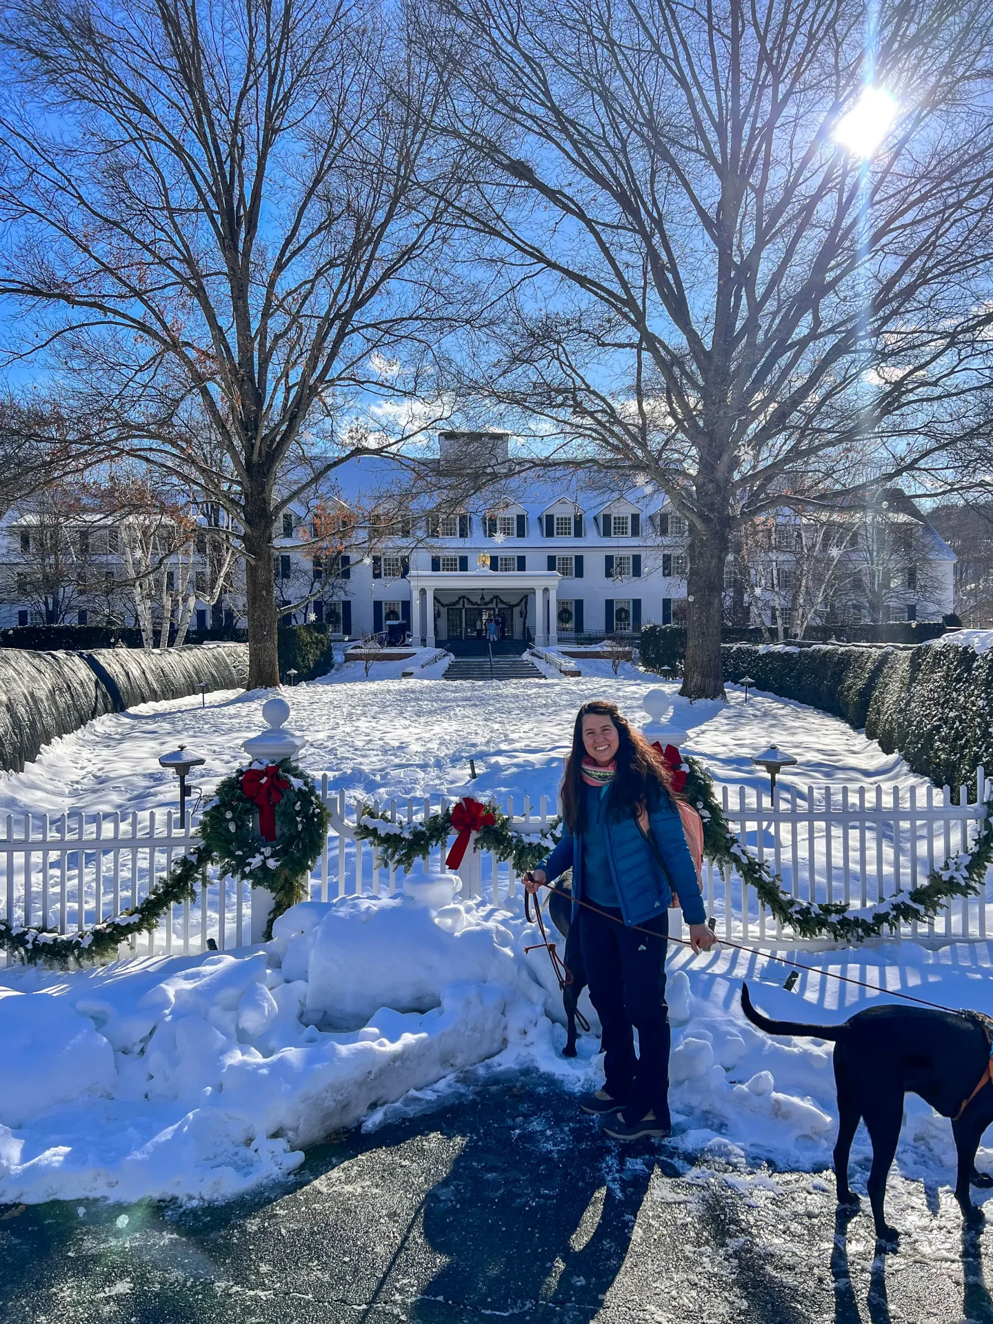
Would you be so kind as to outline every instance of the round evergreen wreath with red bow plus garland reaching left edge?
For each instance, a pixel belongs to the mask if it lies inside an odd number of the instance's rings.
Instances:
[[[81,933],[0,920],[0,947],[24,961],[113,960],[122,943],[147,933],[172,906],[193,900],[209,866],[266,887],[273,920],[307,895],[307,879],[327,837],[328,812],[314,779],[290,759],[253,763],[225,777],[197,825],[200,843],[176,861],[138,906]]]

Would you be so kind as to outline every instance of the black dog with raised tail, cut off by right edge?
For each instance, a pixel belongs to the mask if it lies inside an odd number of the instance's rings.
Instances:
[[[873,1141],[869,1198],[880,1241],[895,1242],[899,1237],[883,1217],[883,1201],[903,1121],[903,1096],[908,1091],[919,1094],[936,1112],[952,1119],[959,1152],[955,1198],[968,1225],[984,1221],[982,1210],[973,1205],[969,1194],[970,1184],[993,1185],[993,1178],[977,1173],[974,1168],[980,1137],[993,1121],[993,1088],[986,1075],[990,1041],[978,1017],[968,1012],[932,1012],[916,1006],[871,1006],[858,1012],[845,1025],[798,1025],[771,1021],[756,1012],[748,997],[748,985],[741,988],[741,1010],[752,1025],[767,1034],[809,1034],[834,1041],[838,1204],[858,1205],[858,1196],[849,1188],[849,1152],[859,1119],[865,1119]],[[973,1096],[981,1079],[982,1088]]]

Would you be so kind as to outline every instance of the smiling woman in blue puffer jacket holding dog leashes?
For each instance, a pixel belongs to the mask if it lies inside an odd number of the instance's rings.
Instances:
[[[666,947],[674,892],[694,952],[716,941],[669,765],[616,704],[584,703],[561,798],[563,838],[523,882],[534,894],[572,869],[572,922],[602,1029],[605,1072],[604,1088],[581,1095],[580,1108],[597,1115],[601,1131],[616,1140],[667,1136]]]

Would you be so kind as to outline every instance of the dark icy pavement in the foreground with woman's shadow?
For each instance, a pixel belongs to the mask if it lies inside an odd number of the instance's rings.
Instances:
[[[947,1190],[895,1178],[912,1230],[876,1258],[867,1214],[835,1226],[825,1177],[714,1153],[687,1170],[665,1144],[600,1140],[543,1078],[504,1078],[322,1145],[252,1204],[8,1207],[0,1317],[993,1324],[993,1227],[963,1239]]]

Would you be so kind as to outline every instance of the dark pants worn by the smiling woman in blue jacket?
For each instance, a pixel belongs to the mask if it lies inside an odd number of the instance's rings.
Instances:
[[[669,1125],[669,915],[641,925],[650,933],[628,928],[618,910],[604,908],[601,914],[584,906],[577,920],[589,1000],[604,1031],[604,1088],[625,1100],[626,1120],[639,1121],[654,1108],[658,1120]]]

